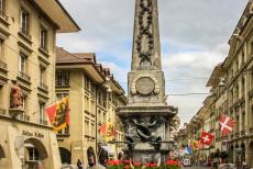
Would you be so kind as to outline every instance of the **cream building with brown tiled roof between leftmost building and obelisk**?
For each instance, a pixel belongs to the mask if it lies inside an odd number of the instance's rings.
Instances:
[[[62,162],[77,164],[80,159],[86,167],[105,162],[109,156],[117,156],[117,145],[109,145],[100,134],[101,125],[110,122],[122,127],[114,113],[117,105],[125,104],[124,91],[113,75],[97,64],[92,53],[68,53],[56,48],[56,97],[68,95],[70,124],[57,133]],[[113,140],[121,140],[119,135]]]

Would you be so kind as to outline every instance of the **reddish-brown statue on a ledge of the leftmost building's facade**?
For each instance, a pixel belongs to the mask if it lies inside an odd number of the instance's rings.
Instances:
[[[12,80],[10,108],[21,108],[23,106],[23,94],[15,80]]]

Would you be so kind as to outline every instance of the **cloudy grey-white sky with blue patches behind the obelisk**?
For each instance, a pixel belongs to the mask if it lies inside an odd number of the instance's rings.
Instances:
[[[135,0],[61,0],[81,27],[57,35],[72,53],[96,53],[127,91],[131,69]],[[248,0],[158,0],[162,63],[168,104],[178,108],[182,124],[201,108],[207,81],[224,60]]]

